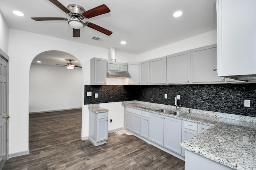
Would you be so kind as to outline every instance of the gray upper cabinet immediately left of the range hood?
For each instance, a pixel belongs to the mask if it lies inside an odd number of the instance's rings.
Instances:
[[[91,85],[106,84],[107,60],[92,58],[91,59]]]

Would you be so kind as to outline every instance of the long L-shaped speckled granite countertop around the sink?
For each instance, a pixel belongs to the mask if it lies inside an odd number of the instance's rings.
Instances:
[[[212,126],[207,131],[181,143],[196,154],[237,170],[256,170],[256,123],[227,119],[207,114],[189,113],[184,116],[164,114],[156,109],[174,110],[174,106],[148,103],[122,103],[123,106]],[[169,107],[169,108],[166,108]],[[182,111],[186,111],[187,108]]]

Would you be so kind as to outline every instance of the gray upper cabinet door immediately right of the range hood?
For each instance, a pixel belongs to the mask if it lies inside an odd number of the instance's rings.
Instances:
[[[140,84],[140,63],[128,63],[129,84]]]

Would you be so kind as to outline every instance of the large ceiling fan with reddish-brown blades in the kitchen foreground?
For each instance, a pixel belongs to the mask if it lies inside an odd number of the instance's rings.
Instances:
[[[84,26],[100,31],[101,33],[104,33],[106,35],[112,34],[112,31],[109,31],[108,29],[105,29],[88,21],[82,21],[84,19],[87,20],[88,18],[92,18],[110,12],[110,9],[105,4],[86,11],[82,6],[76,4],[70,4],[66,8],[64,5],[58,2],[58,0],[49,1],[56,5],[58,8],[60,8],[62,11],[64,11],[66,14],[68,14],[70,16],[70,19],[56,17],[39,17],[31,19],[35,21],[68,21],[68,24],[73,28],[73,37],[80,37],[80,29]]]

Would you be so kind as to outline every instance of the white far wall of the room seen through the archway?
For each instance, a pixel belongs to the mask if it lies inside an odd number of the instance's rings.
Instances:
[[[80,108],[83,88],[82,68],[31,64],[29,112]]]

